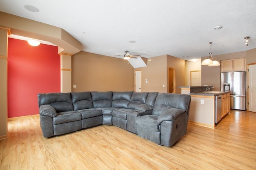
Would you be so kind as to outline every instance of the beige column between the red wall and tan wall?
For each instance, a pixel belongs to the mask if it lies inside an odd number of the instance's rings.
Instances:
[[[71,57],[72,54],[60,53],[60,92],[71,92]]]

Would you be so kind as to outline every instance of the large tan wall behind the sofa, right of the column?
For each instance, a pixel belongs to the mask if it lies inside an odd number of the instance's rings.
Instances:
[[[134,91],[134,68],[123,59],[76,53],[72,56],[72,92],[81,91]]]

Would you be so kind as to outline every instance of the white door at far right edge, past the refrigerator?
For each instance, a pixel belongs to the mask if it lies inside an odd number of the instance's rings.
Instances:
[[[256,112],[256,64],[249,65],[249,111]]]

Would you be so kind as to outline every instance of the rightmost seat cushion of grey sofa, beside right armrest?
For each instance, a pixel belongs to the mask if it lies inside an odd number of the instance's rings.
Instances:
[[[136,124],[151,131],[160,131],[157,123],[158,115],[144,115],[136,118]]]

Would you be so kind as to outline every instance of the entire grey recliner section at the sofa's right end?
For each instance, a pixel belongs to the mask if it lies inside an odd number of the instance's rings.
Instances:
[[[154,143],[172,146],[187,131],[190,96],[159,93],[152,115],[136,119],[137,134]]]

